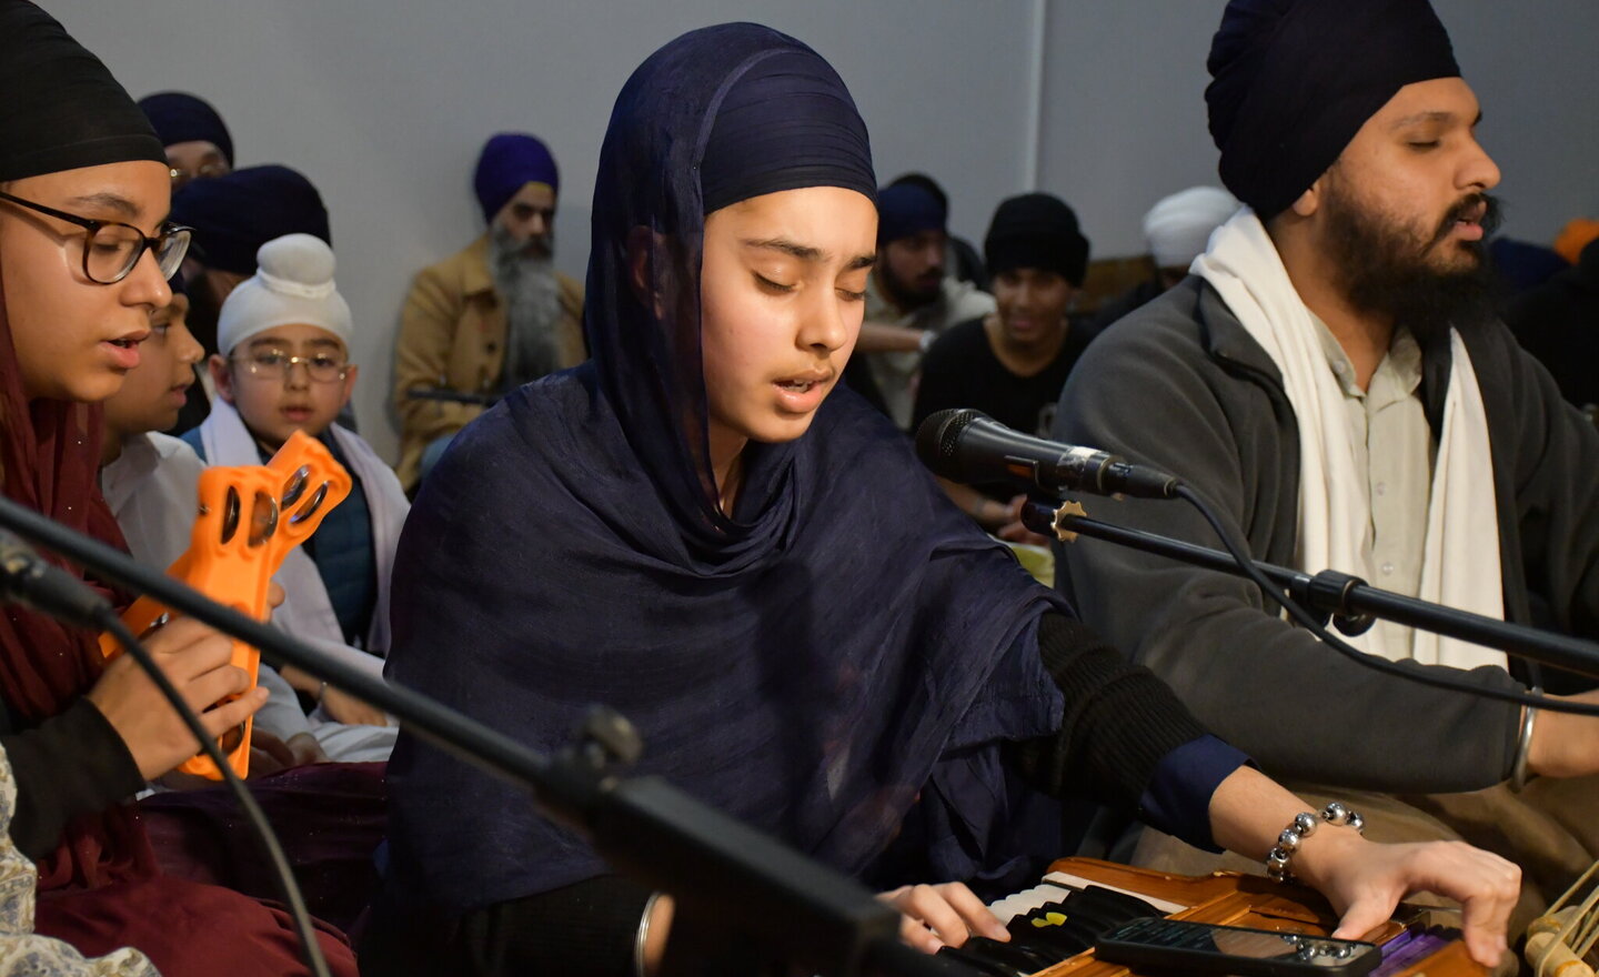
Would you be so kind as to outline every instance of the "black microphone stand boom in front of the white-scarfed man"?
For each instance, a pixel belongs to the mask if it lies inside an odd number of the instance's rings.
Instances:
[[[1092,536],[1145,553],[1247,579],[1231,553],[1142,529],[1102,523],[1089,518],[1076,502],[1067,502],[1059,508],[1044,502],[1028,502],[1022,508],[1022,523],[1033,532],[1062,542],[1071,542],[1075,536]],[[1255,560],[1254,564],[1289,596],[1318,614],[1322,622],[1330,617],[1345,635],[1361,635],[1372,627],[1375,619],[1382,617],[1484,648],[1497,648],[1567,672],[1599,676],[1599,644],[1593,641],[1382,590],[1361,577],[1335,569],[1308,574],[1260,560]]]

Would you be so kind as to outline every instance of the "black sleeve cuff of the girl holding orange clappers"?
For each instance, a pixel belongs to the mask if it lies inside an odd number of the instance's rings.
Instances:
[[[67,822],[144,788],[128,744],[88,699],[26,732],[0,736],[16,777],[11,841],[32,860],[61,844]]]

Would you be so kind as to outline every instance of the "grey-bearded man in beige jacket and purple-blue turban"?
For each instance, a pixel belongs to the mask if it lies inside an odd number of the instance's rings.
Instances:
[[[419,272],[400,318],[398,473],[411,494],[486,405],[587,358],[582,286],[552,265],[560,174],[550,150],[532,136],[494,136],[473,190],[488,230]]]

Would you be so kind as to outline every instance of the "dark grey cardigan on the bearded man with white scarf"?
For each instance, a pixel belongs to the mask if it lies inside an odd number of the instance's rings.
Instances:
[[[1532,622],[1537,603],[1540,620],[1599,635],[1599,430],[1561,400],[1501,323],[1463,337],[1489,419],[1506,617]],[[1428,344],[1422,397],[1434,438],[1449,373],[1447,341]],[[1067,382],[1054,435],[1186,480],[1249,539],[1257,560],[1292,564],[1294,409],[1266,352],[1202,280],[1186,278],[1095,339]],[[1183,502],[1089,500],[1087,512],[1220,545]],[[1353,664],[1278,617],[1274,604],[1263,609],[1260,590],[1238,577],[1095,539],[1060,556],[1057,587],[1083,619],[1278,777],[1434,793],[1509,774],[1516,705]],[[1529,678],[1519,659],[1511,670],[1449,672],[1484,688]]]

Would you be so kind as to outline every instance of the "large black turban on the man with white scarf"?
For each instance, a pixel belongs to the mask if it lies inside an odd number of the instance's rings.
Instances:
[[[1231,0],[1206,67],[1222,182],[1262,221],[1401,88],[1460,75],[1426,0]]]

